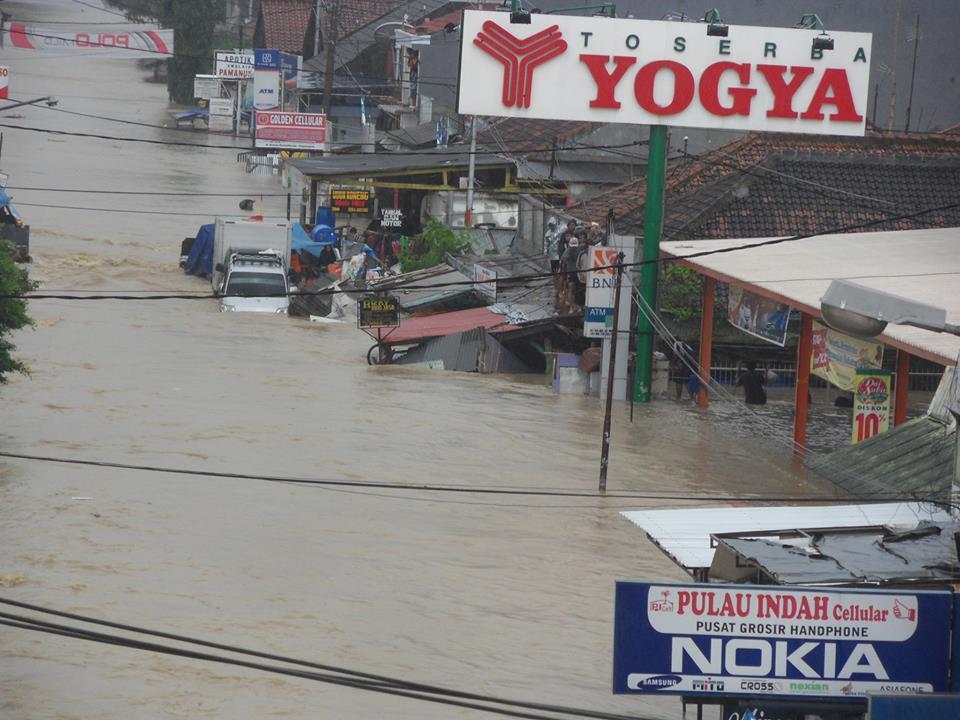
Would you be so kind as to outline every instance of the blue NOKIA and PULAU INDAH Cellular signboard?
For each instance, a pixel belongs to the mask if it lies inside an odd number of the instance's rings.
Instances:
[[[615,693],[945,692],[949,592],[618,582]]]

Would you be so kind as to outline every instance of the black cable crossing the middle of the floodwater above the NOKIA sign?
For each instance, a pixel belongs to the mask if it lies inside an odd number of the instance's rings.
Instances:
[[[60,458],[45,455],[35,455],[27,453],[0,452],[0,457],[11,458],[15,460],[29,460],[34,462],[62,463],[65,465],[78,465],[85,467],[101,467],[119,470],[136,470],[151,473],[164,473],[170,475],[186,475],[192,477],[212,477],[227,480],[254,480],[259,482],[285,483],[291,485],[302,485],[305,487],[348,487],[348,488],[374,488],[379,490],[403,490],[417,492],[438,492],[438,493],[457,493],[457,494],[477,494],[477,495],[504,495],[504,496],[529,496],[529,497],[569,497],[569,498],[613,498],[618,500],[677,500],[677,501],[714,501],[714,502],[796,502],[823,504],[835,502],[832,497],[811,497],[789,496],[789,495],[714,495],[707,496],[703,493],[600,493],[597,491],[587,492],[581,490],[554,490],[551,488],[504,488],[490,486],[468,486],[451,484],[430,484],[430,483],[403,483],[387,482],[377,480],[347,480],[338,478],[297,478],[277,475],[256,475],[251,473],[229,473],[218,472],[214,470],[194,470],[187,468],[161,467],[156,465],[133,465],[130,463],[107,462],[102,460],[80,460],[78,458]],[[924,497],[916,494],[899,494],[890,496],[878,496],[876,494],[863,498],[845,498],[850,502],[925,502]]]

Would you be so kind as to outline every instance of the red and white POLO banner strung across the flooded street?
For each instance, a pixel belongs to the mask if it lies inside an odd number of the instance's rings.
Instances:
[[[89,57],[162,60],[173,55],[173,30],[48,30],[23,23],[8,23],[3,47],[59,52]]]

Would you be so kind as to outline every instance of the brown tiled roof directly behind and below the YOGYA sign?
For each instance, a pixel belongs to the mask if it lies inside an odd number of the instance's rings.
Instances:
[[[664,239],[770,237],[823,232],[912,210],[960,203],[960,137],[864,138],[752,134],[667,171]],[[621,233],[640,233],[646,179],[571,209]],[[960,225],[960,208],[869,230]]]

